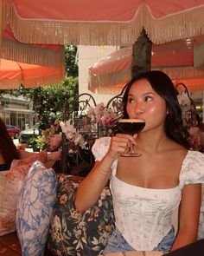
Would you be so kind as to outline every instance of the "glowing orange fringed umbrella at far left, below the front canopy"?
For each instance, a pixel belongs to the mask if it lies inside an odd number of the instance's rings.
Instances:
[[[25,88],[41,87],[64,80],[61,45],[20,43],[7,26],[3,30],[0,56],[0,89],[16,89],[21,84]]]

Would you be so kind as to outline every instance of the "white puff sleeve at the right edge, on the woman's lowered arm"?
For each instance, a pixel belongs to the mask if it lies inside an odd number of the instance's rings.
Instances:
[[[204,154],[198,151],[188,151],[182,163],[180,186],[204,183]]]

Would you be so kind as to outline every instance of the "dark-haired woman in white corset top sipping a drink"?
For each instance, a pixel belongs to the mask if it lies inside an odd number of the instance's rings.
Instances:
[[[124,118],[145,120],[136,136],[100,138],[92,147],[96,163],[78,187],[75,207],[98,200],[111,179],[116,229],[104,254],[118,251],[172,251],[197,238],[204,181],[204,155],[190,151],[182,113],[168,75],[136,75],[124,92]],[[131,143],[139,157],[122,157]],[[179,206],[174,233],[173,210]]]

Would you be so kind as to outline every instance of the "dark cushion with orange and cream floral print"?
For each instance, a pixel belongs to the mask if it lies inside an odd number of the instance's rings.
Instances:
[[[74,208],[75,191],[82,177],[62,175],[48,248],[54,255],[99,255],[114,229],[112,195],[105,187],[97,203],[84,212]]]

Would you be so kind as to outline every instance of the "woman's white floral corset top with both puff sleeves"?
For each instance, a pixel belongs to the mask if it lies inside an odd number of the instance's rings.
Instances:
[[[92,146],[96,161],[101,161],[111,137],[99,138]],[[179,186],[169,189],[137,187],[118,180],[118,161],[112,164],[111,190],[116,226],[135,249],[153,250],[171,228],[171,214],[179,205],[182,187],[204,183],[204,154],[188,151],[179,177]]]

